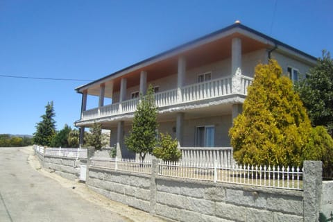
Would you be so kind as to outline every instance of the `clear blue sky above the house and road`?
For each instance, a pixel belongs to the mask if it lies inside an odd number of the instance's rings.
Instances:
[[[333,53],[332,8],[332,0],[0,0],[0,75],[94,80],[237,19],[321,57]],[[85,83],[0,76],[0,134],[32,135],[48,101],[58,130],[73,128],[74,88]],[[88,108],[97,104],[88,98]]]

